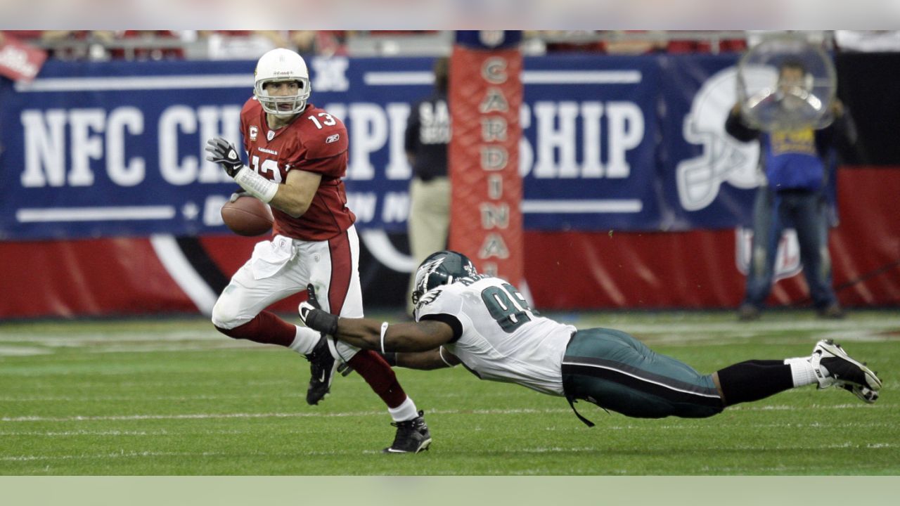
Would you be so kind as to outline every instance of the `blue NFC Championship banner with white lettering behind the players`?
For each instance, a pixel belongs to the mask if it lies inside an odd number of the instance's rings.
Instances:
[[[689,230],[749,221],[755,149],[723,130],[736,55],[523,59],[526,230]],[[410,106],[430,58],[309,59],[311,103],[347,124],[361,233],[406,230]],[[227,233],[237,185],[203,159],[239,144],[253,61],[49,61],[0,77],[0,239]]]

